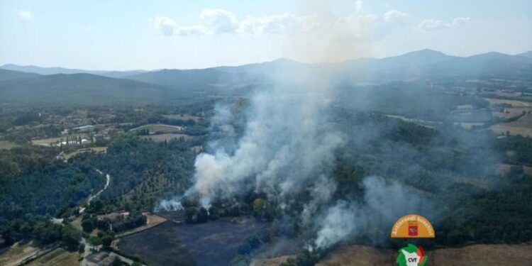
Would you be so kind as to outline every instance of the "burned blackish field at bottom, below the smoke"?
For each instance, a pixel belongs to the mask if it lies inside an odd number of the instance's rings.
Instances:
[[[209,223],[169,221],[121,238],[121,253],[135,255],[148,265],[228,265],[247,238],[265,231],[255,218],[220,218]]]

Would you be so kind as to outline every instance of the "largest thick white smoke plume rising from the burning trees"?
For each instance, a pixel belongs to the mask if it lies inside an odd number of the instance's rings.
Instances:
[[[342,142],[327,122],[331,90],[311,82],[287,83],[276,81],[250,98],[244,133],[235,147],[216,145],[196,157],[192,190],[204,206],[250,190],[283,202],[323,183],[328,174],[324,166],[331,165],[333,150]],[[228,115],[216,113],[221,120]]]

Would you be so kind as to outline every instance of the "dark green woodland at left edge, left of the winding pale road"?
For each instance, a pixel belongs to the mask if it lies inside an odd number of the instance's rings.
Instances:
[[[82,162],[55,160],[57,153],[57,148],[31,145],[0,150],[0,235],[9,242],[62,241],[77,248],[81,233],[50,219],[77,214],[79,204],[105,179]]]

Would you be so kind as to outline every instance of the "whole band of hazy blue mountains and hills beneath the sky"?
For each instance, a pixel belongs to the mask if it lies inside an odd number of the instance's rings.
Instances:
[[[532,80],[532,57],[529,55],[531,52],[519,55],[488,52],[457,57],[426,49],[381,59],[362,58],[328,64],[310,65],[279,59],[235,67],[151,72],[94,72],[4,65],[0,67],[0,104],[172,103],[192,94],[248,93],[279,80],[282,84],[294,82],[292,84],[303,87],[318,84],[321,79],[335,80],[338,84],[418,79]],[[6,70],[6,67],[12,70]],[[82,73],[72,73],[78,71]],[[50,72],[72,74],[43,74]]]

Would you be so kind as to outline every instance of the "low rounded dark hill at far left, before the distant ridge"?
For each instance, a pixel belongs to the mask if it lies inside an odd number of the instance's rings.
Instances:
[[[153,84],[94,74],[52,74],[0,82],[0,104],[26,106],[167,104],[183,96]]]

